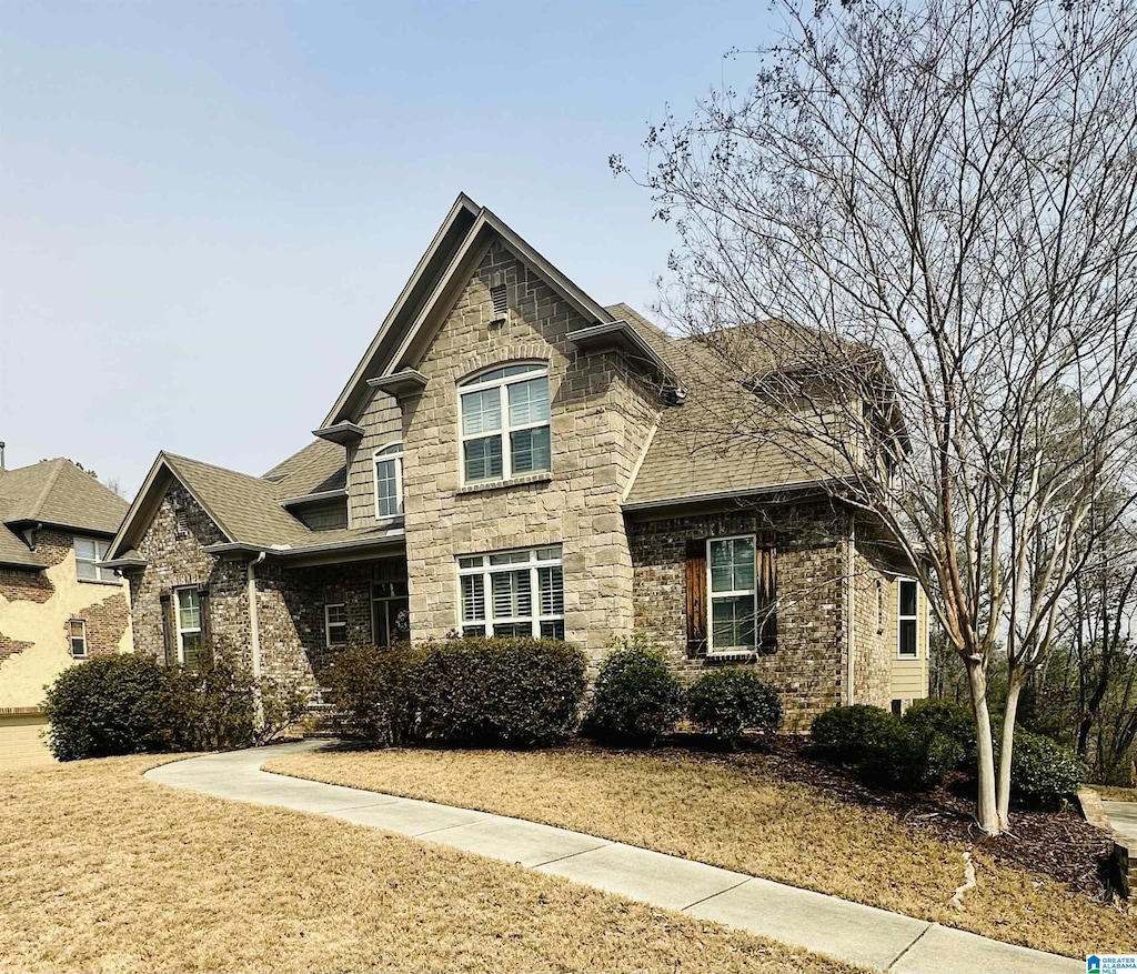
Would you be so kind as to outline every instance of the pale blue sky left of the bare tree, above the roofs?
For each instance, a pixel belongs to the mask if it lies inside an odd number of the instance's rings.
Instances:
[[[0,440],[140,486],[304,446],[459,190],[604,303],[642,165],[763,3],[0,0]]]

